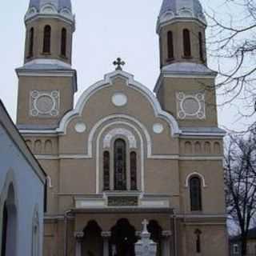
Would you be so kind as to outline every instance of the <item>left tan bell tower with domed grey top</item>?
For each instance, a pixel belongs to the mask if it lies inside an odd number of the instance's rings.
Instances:
[[[70,0],[30,0],[25,25],[24,65],[16,70],[17,124],[20,129],[53,129],[73,109],[77,91]]]

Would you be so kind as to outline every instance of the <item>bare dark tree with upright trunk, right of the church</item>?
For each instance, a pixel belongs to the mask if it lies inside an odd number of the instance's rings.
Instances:
[[[226,205],[238,226],[242,255],[246,255],[248,230],[256,215],[256,133],[230,135],[225,154]]]

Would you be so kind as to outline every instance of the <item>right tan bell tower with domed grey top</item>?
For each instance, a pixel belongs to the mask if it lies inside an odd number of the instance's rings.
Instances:
[[[217,126],[216,73],[206,62],[206,18],[198,0],[163,0],[158,16],[162,108],[180,126]]]

